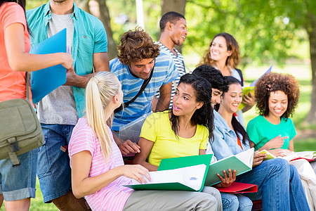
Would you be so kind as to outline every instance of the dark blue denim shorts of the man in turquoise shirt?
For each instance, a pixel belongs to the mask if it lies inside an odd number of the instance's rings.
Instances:
[[[65,195],[72,187],[70,159],[60,146],[68,145],[74,125],[41,124],[44,144],[39,147],[37,177],[44,203]]]

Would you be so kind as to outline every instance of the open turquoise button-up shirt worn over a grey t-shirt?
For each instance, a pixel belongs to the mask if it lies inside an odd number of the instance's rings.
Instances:
[[[50,1],[47,4],[27,11],[27,24],[32,31],[32,46],[48,38],[48,23],[51,20]],[[103,23],[98,18],[86,13],[74,4],[74,38],[72,39],[72,58],[77,75],[93,72],[93,53],[107,52],[107,34]],[[82,117],[86,107],[85,89],[74,87],[74,101],[78,116]]]

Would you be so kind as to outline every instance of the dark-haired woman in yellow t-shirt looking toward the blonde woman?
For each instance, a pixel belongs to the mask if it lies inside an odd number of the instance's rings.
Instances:
[[[211,84],[197,75],[183,75],[171,110],[152,113],[145,120],[138,143],[140,153],[133,163],[157,171],[164,158],[204,155],[209,136],[213,139]],[[222,210],[220,193],[215,188],[204,187],[203,192],[215,196],[218,210]]]

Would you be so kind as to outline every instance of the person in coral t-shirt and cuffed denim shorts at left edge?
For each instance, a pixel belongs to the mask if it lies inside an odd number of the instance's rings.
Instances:
[[[26,98],[26,71],[35,71],[61,64],[72,67],[67,53],[30,54],[23,1],[0,0],[0,102]],[[29,210],[35,198],[37,149],[18,155],[20,165],[13,167],[10,159],[0,160],[0,193],[6,210]],[[2,196],[2,195],[1,195]]]

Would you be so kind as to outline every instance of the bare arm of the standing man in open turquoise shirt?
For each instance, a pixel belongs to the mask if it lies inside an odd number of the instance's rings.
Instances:
[[[74,68],[67,70],[67,82],[64,84],[65,86],[74,86],[85,88],[86,84],[88,84],[89,79],[96,74],[96,72],[101,71],[110,71],[109,57],[107,53],[93,53],[93,67],[95,72],[88,75],[77,75],[74,72]]]

